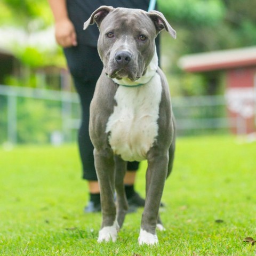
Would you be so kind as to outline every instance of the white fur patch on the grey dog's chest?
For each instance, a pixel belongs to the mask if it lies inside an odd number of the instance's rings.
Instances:
[[[161,94],[161,78],[157,73],[148,84],[118,87],[115,94],[117,106],[106,127],[114,154],[125,161],[146,159],[158,134]]]

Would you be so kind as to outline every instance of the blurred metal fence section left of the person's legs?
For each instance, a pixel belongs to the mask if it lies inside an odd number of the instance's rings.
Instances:
[[[72,134],[79,127],[79,112],[76,93],[0,85],[0,142],[73,141]],[[23,138],[24,131],[27,137],[29,134],[34,137]],[[36,139],[42,138],[42,134],[44,139]]]

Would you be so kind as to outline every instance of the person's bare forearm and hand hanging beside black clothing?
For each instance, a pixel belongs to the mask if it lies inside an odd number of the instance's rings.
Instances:
[[[68,18],[66,0],[48,0],[55,20],[55,38],[62,47],[76,46],[76,31]]]

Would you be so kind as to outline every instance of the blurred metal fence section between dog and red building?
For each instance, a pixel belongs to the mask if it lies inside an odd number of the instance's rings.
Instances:
[[[172,107],[179,134],[228,132],[235,126],[228,117],[224,96],[175,97]]]

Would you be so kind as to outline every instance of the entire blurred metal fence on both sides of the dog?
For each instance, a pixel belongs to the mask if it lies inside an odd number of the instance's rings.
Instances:
[[[244,131],[223,96],[173,97],[172,106],[180,135]],[[0,143],[75,141],[79,116],[76,93],[0,85]]]

